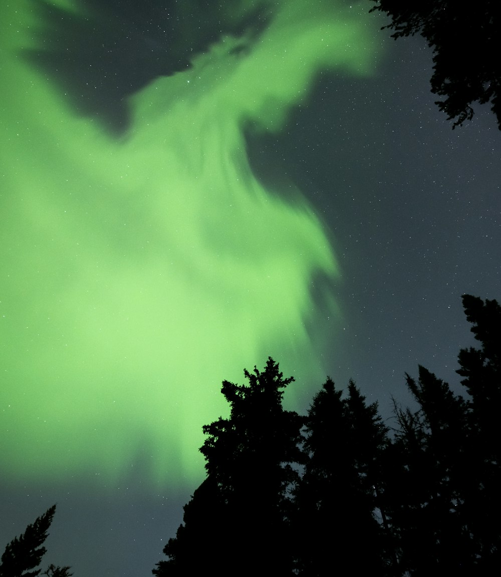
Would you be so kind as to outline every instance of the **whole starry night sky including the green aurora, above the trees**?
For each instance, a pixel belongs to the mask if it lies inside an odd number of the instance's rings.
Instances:
[[[328,374],[391,425],[501,298],[488,106],[452,130],[371,2],[227,4],[0,8],[0,547],[57,503],[43,568],[151,574],[223,379],[271,355],[288,408]]]

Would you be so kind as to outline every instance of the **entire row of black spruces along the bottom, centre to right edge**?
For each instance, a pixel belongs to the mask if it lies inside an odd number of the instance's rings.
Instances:
[[[393,429],[352,382],[343,395],[327,379],[305,416],[284,410],[293,379],[271,358],[225,381],[230,417],[204,426],[205,481],[153,573],[496,574],[501,307],[463,307],[481,345],[459,353],[468,395],[420,367],[417,410],[395,403]]]

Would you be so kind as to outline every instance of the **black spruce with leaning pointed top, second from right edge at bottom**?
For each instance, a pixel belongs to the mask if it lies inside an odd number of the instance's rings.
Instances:
[[[387,479],[399,569],[423,577],[470,576],[476,557],[462,507],[469,473],[466,403],[422,366],[418,381],[406,378],[419,409],[396,409]]]

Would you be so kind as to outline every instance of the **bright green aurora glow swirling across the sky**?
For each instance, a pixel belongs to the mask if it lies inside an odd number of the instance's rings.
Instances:
[[[306,201],[253,177],[242,127],[280,129],[321,69],[369,73],[375,32],[364,3],[273,6],[257,40],[223,37],[137,93],[118,138],[20,57],[36,47],[31,1],[2,2],[0,467],[13,480],[113,484],[138,460],[152,483],[199,479],[223,379],[268,355],[324,378],[305,323],[335,256]]]

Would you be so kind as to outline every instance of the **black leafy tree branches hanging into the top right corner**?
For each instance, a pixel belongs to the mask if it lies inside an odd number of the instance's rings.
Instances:
[[[473,102],[490,102],[501,129],[501,6],[498,0],[373,0],[391,18],[392,38],[420,34],[433,48],[431,91],[453,128],[473,117]]]

